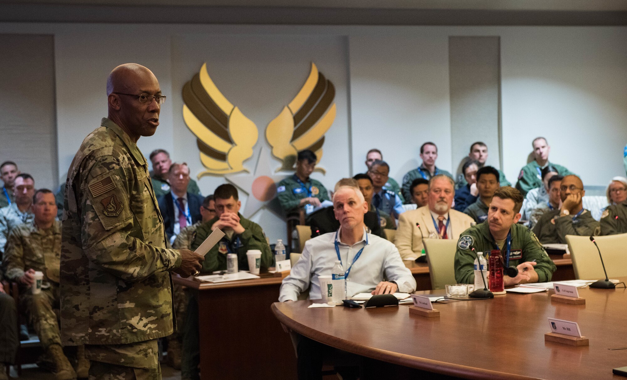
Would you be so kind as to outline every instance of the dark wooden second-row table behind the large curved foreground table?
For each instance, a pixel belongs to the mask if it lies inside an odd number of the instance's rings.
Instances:
[[[557,257],[554,278],[574,279],[571,260]],[[404,262],[416,278],[417,289],[431,289],[427,264]],[[198,293],[203,380],[245,379],[252,374],[259,379],[296,378],[292,341],[270,310],[278,300],[281,277],[262,273],[255,280],[217,284],[176,276],[173,280]]]

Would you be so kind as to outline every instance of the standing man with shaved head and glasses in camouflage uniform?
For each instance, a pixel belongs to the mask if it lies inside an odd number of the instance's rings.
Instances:
[[[166,248],[145,157],[166,97],[152,71],[117,66],[107,80],[108,117],[68,171],[61,238],[61,340],[85,344],[89,377],[161,379],[157,339],[172,334],[170,272],[188,277],[203,256]]]

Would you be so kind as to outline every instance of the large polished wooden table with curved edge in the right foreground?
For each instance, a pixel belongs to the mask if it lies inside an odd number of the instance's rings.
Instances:
[[[621,278],[627,280],[627,278]],[[430,293],[430,292],[416,292]],[[274,303],[277,319],[329,346],[399,366],[467,379],[616,379],[627,366],[627,290],[579,289],[586,305],[551,302],[552,290],[492,300],[434,303],[440,317],[408,306],[308,309],[312,301]],[[544,342],[547,317],[579,323],[589,346]]]

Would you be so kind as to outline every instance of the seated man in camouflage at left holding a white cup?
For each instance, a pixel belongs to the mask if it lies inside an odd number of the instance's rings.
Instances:
[[[61,348],[61,334],[53,309],[60,307],[59,271],[61,259],[61,222],[56,218],[55,195],[40,189],[33,196],[32,222],[11,230],[3,267],[6,277],[21,285],[20,300],[29,324],[37,333],[41,346],[55,364],[56,380],[87,378],[89,361],[84,346],[79,347],[78,367],[71,366]],[[43,272],[41,292],[31,293],[35,271]]]

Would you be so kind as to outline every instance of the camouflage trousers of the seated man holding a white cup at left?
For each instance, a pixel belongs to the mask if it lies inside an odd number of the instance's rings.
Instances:
[[[50,288],[41,289],[38,294],[31,294],[30,290],[26,290],[20,297],[20,306],[26,310],[28,323],[35,330],[44,349],[51,344],[61,346],[59,322],[54,311],[59,309],[59,298],[59,285],[54,283]]]

